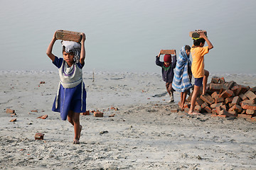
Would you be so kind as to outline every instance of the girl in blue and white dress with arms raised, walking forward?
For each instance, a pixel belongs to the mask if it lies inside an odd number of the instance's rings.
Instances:
[[[86,111],[86,91],[82,81],[82,67],[85,65],[85,33],[81,42],[61,41],[63,58],[53,55],[53,45],[56,41],[55,33],[46,54],[50,57],[60,76],[58,93],[53,103],[52,111],[59,112],[62,120],[67,120],[74,126],[74,144],[79,144],[82,125],[80,113]]]

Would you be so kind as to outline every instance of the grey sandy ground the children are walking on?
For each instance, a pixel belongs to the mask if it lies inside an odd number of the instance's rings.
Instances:
[[[256,74],[214,75],[256,86]],[[57,72],[0,72],[0,169],[256,169],[256,123],[175,112],[178,93],[167,103],[160,74],[83,77],[87,110],[104,117],[81,115],[81,143],[73,145],[73,126],[51,111]]]

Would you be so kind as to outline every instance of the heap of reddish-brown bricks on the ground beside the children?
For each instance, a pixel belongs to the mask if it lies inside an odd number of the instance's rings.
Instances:
[[[188,102],[191,101],[191,96],[188,97]],[[189,105],[186,103],[187,113]],[[200,95],[196,98],[195,111],[223,118],[238,117],[256,121],[256,86],[250,88],[235,81],[225,81],[224,77],[212,77],[205,95],[202,95],[201,88]]]

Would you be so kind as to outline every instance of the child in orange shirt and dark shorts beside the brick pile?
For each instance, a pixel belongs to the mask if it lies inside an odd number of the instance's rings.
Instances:
[[[213,48],[212,43],[208,40],[207,36],[200,31],[200,37],[193,39],[193,46],[191,47],[192,55],[192,66],[191,71],[193,77],[195,78],[195,85],[193,89],[193,94],[191,98],[191,108],[188,111],[189,115],[198,115],[200,113],[194,111],[196,98],[199,94],[200,88],[203,85],[203,94],[206,94],[206,84],[209,76],[209,72],[204,69],[204,55],[206,55],[210,49]],[[208,46],[203,47],[207,42]]]

